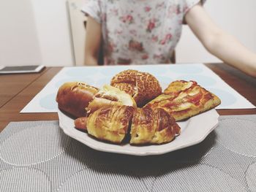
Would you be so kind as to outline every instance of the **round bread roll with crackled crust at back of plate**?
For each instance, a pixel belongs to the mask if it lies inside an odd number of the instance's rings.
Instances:
[[[110,85],[132,96],[138,107],[143,107],[148,101],[162,93],[162,88],[156,77],[137,70],[126,70],[116,74]]]

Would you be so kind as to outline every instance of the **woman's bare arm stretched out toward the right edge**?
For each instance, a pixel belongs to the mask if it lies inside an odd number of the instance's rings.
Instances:
[[[225,63],[256,77],[256,54],[222,31],[200,4],[187,12],[185,20],[206,50]]]

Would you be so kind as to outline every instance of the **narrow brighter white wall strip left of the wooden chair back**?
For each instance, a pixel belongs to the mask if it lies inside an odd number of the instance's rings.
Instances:
[[[42,64],[70,66],[72,38],[65,0],[31,0],[37,28]]]

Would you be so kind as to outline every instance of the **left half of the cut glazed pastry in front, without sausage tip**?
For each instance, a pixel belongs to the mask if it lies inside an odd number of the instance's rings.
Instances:
[[[134,108],[125,105],[102,107],[87,119],[87,131],[97,139],[121,143],[127,135]]]

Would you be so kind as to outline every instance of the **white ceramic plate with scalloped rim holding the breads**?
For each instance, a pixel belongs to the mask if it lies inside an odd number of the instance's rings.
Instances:
[[[146,145],[146,146],[133,146],[129,144],[116,145],[107,142],[100,142],[93,137],[89,137],[88,134],[78,131],[74,127],[74,119],[69,118],[60,110],[59,126],[63,129],[64,133],[69,137],[72,137],[84,145],[93,148],[94,150],[100,150],[110,153],[122,153],[129,155],[161,155],[171,152],[173,150],[179,150],[184,147],[196,145],[202,142],[211,131],[218,124],[219,114],[216,110],[209,110],[203,112],[200,115],[189,118],[189,120],[178,122],[181,127],[181,134],[176,137],[172,142],[164,145]]]

